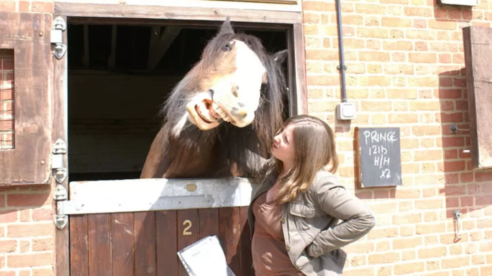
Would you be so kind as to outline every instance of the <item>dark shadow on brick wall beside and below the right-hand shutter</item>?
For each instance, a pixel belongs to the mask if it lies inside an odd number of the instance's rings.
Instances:
[[[439,142],[442,144],[443,154],[442,162],[437,164],[437,172],[444,174],[444,188],[437,192],[446,198],[446,218],[454,218],[455,211],[460,211],[465,220],[480,217],[480,210],[492,204],[492,170],[473,170],[471,165],[464,68],[439,74],[437,97],[440,113],[436,114],[436,121],[441,124],[442,138],[436,143],[437,147],[440,146]],[[452,127],[457,130],[453,131]],[[474,225],[469,227],[473,228]],[[469,227],[463,221],[463,230]]]

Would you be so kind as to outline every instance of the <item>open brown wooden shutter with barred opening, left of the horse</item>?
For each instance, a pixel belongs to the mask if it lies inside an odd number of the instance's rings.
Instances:
[[[14,147],[0,150],[0,186],[51,181],[50,24],[50,14],[0,15],[0,48],[14,50]]]

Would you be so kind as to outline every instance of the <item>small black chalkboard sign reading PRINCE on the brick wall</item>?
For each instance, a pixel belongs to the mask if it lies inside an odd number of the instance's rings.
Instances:
[[[401,185],[400,128],[355,128],[361,187]]]

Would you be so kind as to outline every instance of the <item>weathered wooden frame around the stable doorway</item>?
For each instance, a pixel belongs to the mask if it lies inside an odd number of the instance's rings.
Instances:
[[[246,0],[247,1],[247,0]],[[95,3],[71,3],[55,2],[53,18],[61,16],[65,22],[77,22],[86,24],[148,24],[159,25],[173,24],[181,26],[207,26],[218,27],[226,16],[231,17],[233,28],[259,28],[259,29],[286,29],[287,50],[289,52],[289,115],[307,114],[307,86],[306,86],[306,62],[305,44],[302,22],[302,6],[300,0],[266,0],[275,3],[257,3],[262,0],[242,1],[208,1],[208,0],[180,0],[174,1],[175,6],[151,6],[145,5],[147,0],[138,0],[138,5],[128,4],[95,4]],[[251,3],[256,2],[256,3]],[[265,1],[262,1],[265,2]],[[278,4],[280,2],[296,2],[296,4]],[[178,4],[176,4],[178,3]],[[193,4],[193,9],[185,6]],[[212,6],[215,3],[217,6]],[[235,8],[232,7],[231,3]],[[153,2],[155,4],[155,2]],[[168,4],[166,2],[166,4]],[[183,5],[181,5],[183,4]],[[181,6],[178,6],[181,5]],[[265,23],[267,25],[265,25]],[[163,24],[163,25],[164,25]],[[62,39],[66,45],[66,31]],[[67,49],[67,53],[69,53]],[[53,87],[53,140],[62,138],[67,140],[67,55],[61,59],[54,58],[54,87]],[[65,167],[68,166],[67,158],[64,159]],[[121,181],[121,180],[115,180]],[[124,180],[123,180],[124,181]],[[152,179],[141,179],[140,182],[151,182]],[[165,181],[165,180],[164,180]],[[206,182],[198,180],[198,182]],[[245,186],[245,181],[233,184],[239,187]],[[102,182],[100,182],[102,183]],[[68,180],[59,184],[67,191]],[[241,187],[240,187],[241,186]],[[73,194],[68,191],[68,194]],[[244,200],[242,200],[244,201]],[[241,203],[244,205],[244,202]],[[55,270],[56,275],[69,276],[69,239],[68,227],[56,230],[55,234]]]

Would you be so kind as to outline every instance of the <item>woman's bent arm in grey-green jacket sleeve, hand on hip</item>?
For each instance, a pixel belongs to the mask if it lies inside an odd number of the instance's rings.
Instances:
[[[311,257],[318,257],[351,244],[369,233],[375,225],[375,218],[369,207],[345,188],[334,187],[333,183],[326,182],[316,186],[314,198],[320,208],[342,222],[321,231],[314,238],[307,248]]]

